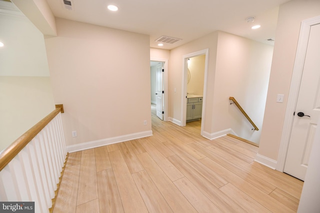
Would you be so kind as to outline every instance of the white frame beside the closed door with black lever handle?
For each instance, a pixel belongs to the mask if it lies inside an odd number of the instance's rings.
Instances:
[[[319,23],[320,23],[320,16],[301,21],[300,33],[299,33],[298,44],[296,48],[295,60],[294,60],[293,71],[292,71],[291,85],[290,85],[288,101],[287,101],[286,111],[284,116],[279,154],[278,154],[277,164],[275,167],[275,169],[280,172],[283,172],[284,170],[286,153],[289,147],[289,141],[290,141],[293,118],[294,118],[293,112],[295,111],[296,102],[298,98],[298,92],[300,88],[300,82],[302,77],[308,38],[310,34],[310,28],[312,25],[319,24]]]

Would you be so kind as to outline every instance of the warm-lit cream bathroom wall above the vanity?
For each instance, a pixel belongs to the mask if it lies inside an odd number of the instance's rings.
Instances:
[[[190,71],[190,78],[187,83],[188,93],[192,93],[193,95],[203,95],[204,62],[205,55],[189,58],[188,69]]]

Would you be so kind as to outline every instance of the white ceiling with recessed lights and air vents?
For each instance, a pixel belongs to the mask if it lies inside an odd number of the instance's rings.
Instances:
[[[278,5],[289,0],[71,0],[72,10],[63,0],[47,0],[54,16],[150,36],[150,47],[172,49],[210,32],[221,30],[269,43],[274,38]],[[106,6],[115,4],[116,12]],[[245,18],[255,16],[254,24]],[[175,44],[158,47],[154,40],[165,35],[181,38]]]

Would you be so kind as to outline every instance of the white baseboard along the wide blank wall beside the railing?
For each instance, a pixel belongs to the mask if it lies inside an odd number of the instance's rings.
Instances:
[[[121,135],[121,136],[113,137],[113,138],[105,138],[105,139],[85,142],[85,143],[81,143],[81,144],[70,145],[70,146],[66,146],[66,151],[69,153],[77,152],[77,151],[82,151],[82,150],[86,150],[86,149],[92,149],[95,147],[120,143],[123,141],[130,141],[130,140],[134,140],[134,139],[138,139],[138,138],[144,138],[144,137],[148,137],[148,136],[152,136],[151,130],[145,131],[145,132],[128,134],[128,135]]]

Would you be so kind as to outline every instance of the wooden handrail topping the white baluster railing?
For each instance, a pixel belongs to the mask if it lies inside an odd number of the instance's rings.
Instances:
[[[58,107],[0,153],[0,171],[59,113]]]

